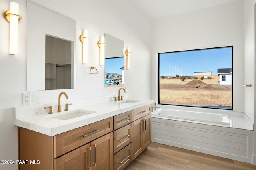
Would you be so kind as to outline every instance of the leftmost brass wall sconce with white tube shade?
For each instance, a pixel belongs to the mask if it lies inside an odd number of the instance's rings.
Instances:
[[[18,23],[21,19],[19,16],[19,4],[11,2],[10,10],[4,13],[6,21],[10,22],[9,54],[18,52]]]

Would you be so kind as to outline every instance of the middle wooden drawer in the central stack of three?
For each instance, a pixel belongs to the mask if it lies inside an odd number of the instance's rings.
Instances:
[[[132,142],[132,124],[114,131],[114,153]]]

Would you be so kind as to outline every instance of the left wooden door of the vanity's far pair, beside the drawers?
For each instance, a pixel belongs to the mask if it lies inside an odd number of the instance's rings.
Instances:
[[[143,119],[132,122],[132,160],[134,160],[143,150]]]

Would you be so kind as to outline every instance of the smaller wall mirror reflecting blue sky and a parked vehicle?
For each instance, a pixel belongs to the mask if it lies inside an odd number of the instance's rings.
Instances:
[[[124,41],[105,33],[105,87],[124,86]]]

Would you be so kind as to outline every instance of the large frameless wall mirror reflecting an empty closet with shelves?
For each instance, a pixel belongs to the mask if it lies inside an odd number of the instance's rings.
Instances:
[[[76,88],[76,21],[27,1],[27,91]]]

